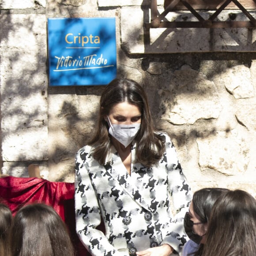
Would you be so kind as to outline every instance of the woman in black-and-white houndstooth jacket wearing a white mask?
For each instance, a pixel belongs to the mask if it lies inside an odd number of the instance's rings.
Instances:
[[[75,158],[81,241],[94,256],[179,254],[190,200],[173,143],[155,130],[143,88],[114,79],[102,93],[94,136]],[[105,234],[96,229],[101,218]]]

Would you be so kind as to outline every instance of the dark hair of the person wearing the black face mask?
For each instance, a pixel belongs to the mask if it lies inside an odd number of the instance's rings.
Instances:
[[[209,221],[214,203],[220,195],[228,191],[227,188],[202,188],[193,194],[193,210],[199,216],[200,222],[207,223]],[[203,246],[203,244],[200,244],[198,250],[192,255],[201,256]]]

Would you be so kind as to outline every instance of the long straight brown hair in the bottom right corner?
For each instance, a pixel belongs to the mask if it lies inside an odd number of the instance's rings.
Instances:
[[[209,220],[203,256],[256,255],[256,200],[243,190],[216,201]]]

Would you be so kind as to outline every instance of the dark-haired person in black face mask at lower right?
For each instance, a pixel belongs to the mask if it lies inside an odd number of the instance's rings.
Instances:
[[[184,218],[185,231],[190,238],[184,245],[182,256],[201,256],[211,210],[226,188],[202,188],[193,194],[189,211]]]

